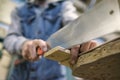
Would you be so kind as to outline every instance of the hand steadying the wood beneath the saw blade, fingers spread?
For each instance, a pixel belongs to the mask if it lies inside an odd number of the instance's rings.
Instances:
[[[81,45],[76,45],[71,48],[71,59],[70,63],[73,65],[76,63],[78,59],[78,55],[80,52],[86,52],[90,49],[93,49],[94,47],[98,46],[98,42],[95,40],[91,40],[89,42],[83,43]]]

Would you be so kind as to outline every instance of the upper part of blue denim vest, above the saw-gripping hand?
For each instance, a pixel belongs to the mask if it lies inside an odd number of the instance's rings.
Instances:
[[[56,5],[50,4],[51,7],[42,11],[38,16],[35,13],[36,7],[33,5],[25,5],[18,9],[23,36],[28,39],[46,40],[51,34],[60,29],[62,25],[61,4]]]

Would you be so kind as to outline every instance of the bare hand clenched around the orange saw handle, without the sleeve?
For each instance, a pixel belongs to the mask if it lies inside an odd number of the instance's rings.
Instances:
[[[36,39],[29,40],[23,43],[22,45],[22,56],[24,59],[29,61],[35,61],[39,59],[37,56],[36,48],[40,47],[44,52],[47,51],[47,44],[45,41]]]

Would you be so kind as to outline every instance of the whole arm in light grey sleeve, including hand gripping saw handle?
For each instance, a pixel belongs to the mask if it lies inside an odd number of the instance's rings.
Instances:
[[[22,35],[20,18],[16,11],[12,13],[12,25],[4,40],[4,46],[10,53],[17,53],[29,61],[39,59],[36,52],[37,47],[40,47],[44,52],[47,51],[45,41],[41,39],[29,40]]]

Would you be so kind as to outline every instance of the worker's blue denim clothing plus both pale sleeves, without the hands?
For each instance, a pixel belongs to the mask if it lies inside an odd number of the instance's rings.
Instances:
[[[5,47],[10,53],[20,54],[20,46],[27,39],[46,40],[62,27],[62,21],[68,22],[68,20],[72,21],[78,17],[74,13],[75,8],[70,1],[49,5],[50,7],[44,9],[39,15],[35,12],[36,7],[31,4],[16,8],[16,12],[12,15],[11,28],[4,41]],[[68,10],[68,16],[63,8]],[[69,13],[74,16],[71,17]],[[25,61],[15,66],[10,80],[66,80],[66,78],[65,74],[61,72],[60,64],[42,58],[36,62]]]

